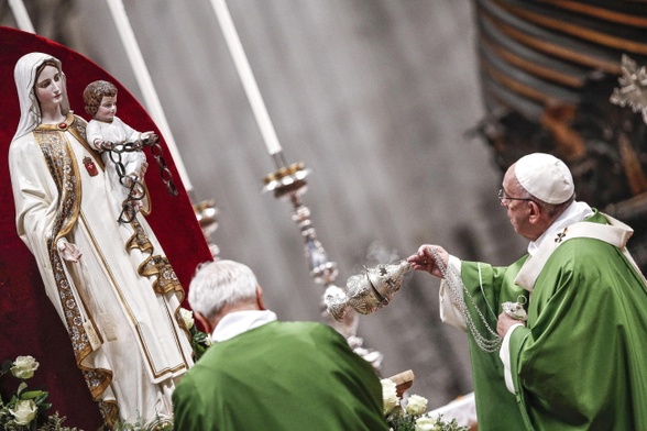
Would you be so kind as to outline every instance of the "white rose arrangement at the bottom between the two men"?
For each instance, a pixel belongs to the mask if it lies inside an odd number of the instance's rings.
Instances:
[[[388,378],[382,383],[382,401],[384,417],[391,431],[469,431],[469,427],[460,427],[456,419],[450,422],[441,416],[432,418],[427,410],[427,399],[412,395],[401,400],[395,383]]]

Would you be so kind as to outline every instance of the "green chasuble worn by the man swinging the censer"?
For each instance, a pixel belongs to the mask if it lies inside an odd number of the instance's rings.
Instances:
[[[605,219],[596,212],[586,222]],[[524,295],[514,278],[526,259],[508,268],[463,263],[463,281],[491,327],[501,302]],[[647,288],[622,251],[564,240],[535,281],[527,327],[512,333],[516,395],[505,388],[498,352],[470,340],[479,430],[647,430],[646,340]]]

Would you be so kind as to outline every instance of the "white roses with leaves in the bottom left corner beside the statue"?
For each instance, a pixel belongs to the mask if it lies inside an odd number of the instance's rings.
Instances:
[[[42,389],[28,390],[25,380],[32,378],[39,363],[32,356],[18,356],[14,361],[4,361],[0,377],[10,375],[20,383],[18,388],[6,400],[0,393],[0,429],[7,431],[75,431],[76,428],[63,427],[65,417],[58,412],[46,416],[52,407],[47,402],[50,393]]]

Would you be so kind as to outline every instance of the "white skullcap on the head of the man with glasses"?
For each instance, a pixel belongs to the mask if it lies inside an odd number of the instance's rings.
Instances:
[[[566,202],[575,191],[567,165],[550,154],[523,156],[515,164],[515,176],[526,191],[547,203]]]

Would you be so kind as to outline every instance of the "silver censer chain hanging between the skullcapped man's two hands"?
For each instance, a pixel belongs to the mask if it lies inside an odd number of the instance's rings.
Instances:
[[[440,274],[442,274],[442,276],[445,277],[445,281],[449,286],[449,290],[453,297],[453,302],[458,307],[458,309],[461,312],[461,314],[463,316],[463,318],[465,319],[467,327],[468,327],[470,333],[472,334],[472,336],[474,338],[476,345],[479,345],[479,347],[482,351],[485,351],[489,353],[496,352],[501,347],[501,343],[502,343],[503,339],[501,338],[501,335],[498,335],[496,333],[496,331],[494,331],[492,329],[492,327],[490,327],[485,317],[483,316],[483,313],[481,312],[479,307],[476,307],[476,302],[474,301],[474,298],[468,291],[461,277],[459,277],[459,275],[456,274],[456,272],[453,269],[451,269],[449,266],[445,266],[445,263],[442,262],[442,259],[438,255],[438,252],[434,247],[428,247],[428,248],[431,252],[434,259],[436,261],[436,266],[438,266]],[[463,296],[463,294],[464,294],[464,296]],[[476,310],[476,313],[479,314],[479,317],[481,318],[481,321],[485,325],[485,330],[487,330],[487,332],[490,332],[490,334],[493,335],[493,339],[489,339],[479,332],[479,330],[476,329],[476,325],[472,319],[472,314],[470,314],[470,312],[468,310],[468,306],[465,303],[464,297],[469,298],[470,302],[474,307],[474,310]]]

